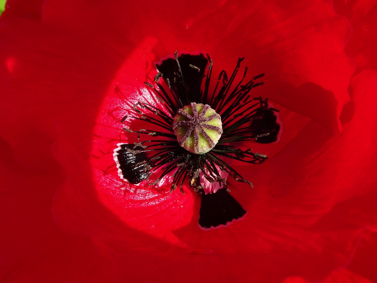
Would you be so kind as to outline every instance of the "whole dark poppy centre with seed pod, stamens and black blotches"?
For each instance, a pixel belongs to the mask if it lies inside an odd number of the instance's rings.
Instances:
[[[120,119],[121,123],[129,118],[142,120],[145,125],[142,129],[124,127],[128,143],[118,143],[113,154],[118,175],[127,182],[156,186],[169,176],[170,193],[178,186],[184,193],[186,184],[187,189],[193,188],[201,194],[202,229],[227,226],[246,214],[228,193],[227,179],[247,183],[251,188],[253,184],[233,168],[232,161],[261,164],[268,157],[252,152],[251,148],[241,149],[238,144],[252,139],[259,143],[274,142],[280,131],[274,114],[279,111],[268,106],[267,98],[251,94],[254,88],[263,85],[256,80],[264,74],[244,81],[245,67],[241,80],[233,84],[244,60],[239,58],[230,77],[225,70],[221,71],[212,92],[213,62],[208,55],[207,58],[203,54],[178,56],[175,52],[174,58],[156,65],[159,72],[154,83],[145,82],[154,94],[134,105],[126,99],[130,109]],[[135,127],[138,125],[135,123]],[[129,143],[132,133],[138,134],[133,144]],[[141,134],[149,138],[140,140]]]

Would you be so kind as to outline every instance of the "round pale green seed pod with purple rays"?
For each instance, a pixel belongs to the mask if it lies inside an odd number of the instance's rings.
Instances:
[[[177,111],[172,128],[179,145],[195,154],[210,151],[222,134],[220,115],[209,105],[195,102]]]

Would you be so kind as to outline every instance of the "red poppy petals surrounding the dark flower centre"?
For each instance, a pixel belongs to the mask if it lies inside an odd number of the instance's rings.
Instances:
[[[368,63],[352,78],[350,25],[331,3],[7,5],[3,281],[376,279],[377,74]],[[279,142],[244,143],[268,160],[234,164],[254,188],[228,180],[247,215],[226,228],[199,229],[186,185],[170,194],[116,172],[127,103],[175,50],[210,54],[216,75],[245,57],[250,79],[265,73],[253,95],[280,109]]]

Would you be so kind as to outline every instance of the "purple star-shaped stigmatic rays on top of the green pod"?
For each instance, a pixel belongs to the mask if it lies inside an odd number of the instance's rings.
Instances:
[[[184,134],[184,136],[182,137],[181,141],[179,142],[179,145],[183,147],[184,143],[187,141],[187,139],[191,135],[193,135],[193,137],[194,137],[194,153],[199,154],[200,153],[200,151],[199,151],[199,132],[208,141],[210,147],[213,148],[216,145],[216,143],[207,134],[207,132],[205,132],[204,128],[210,129],[210,130],[218,132],[219,134],[222,134],[221,128],[219,128],[217,126],[206,124],[206,122],[209,122],[209,121],[211,121],[215,118],[218,118],[218,119],[221,120],[221,117],[217,113],[212,114],[208,117],[204,117],[207,110],[211,108],[209,105],[203,105],[203,108],[202,108],[200,113],[198,113],[195,102],[190,103],[190,106],[192,108],[193,115],[190,115],[186,111],[179,109],[177,114],[183,115],[185,118],[187,118],[187,120],[175,122],[173,124],[173,129],[177,128],[178,126],[184,126],[185,128],[187,128],[187,131]]]

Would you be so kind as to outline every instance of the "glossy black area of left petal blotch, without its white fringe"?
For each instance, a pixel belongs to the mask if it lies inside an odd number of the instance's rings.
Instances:
[[[124,143],[118,149],[118,162],[120,164],[119,168],[122,171],[123,177],[129,181],[131,184],[138,184],[148,177],[148,172],[144,171],[144,165],[136,166],[136,164],[148,160],[145,153],[137,153],[132,155],[127,149],[138,150],[139,147],[135,147],[133,144]]]

